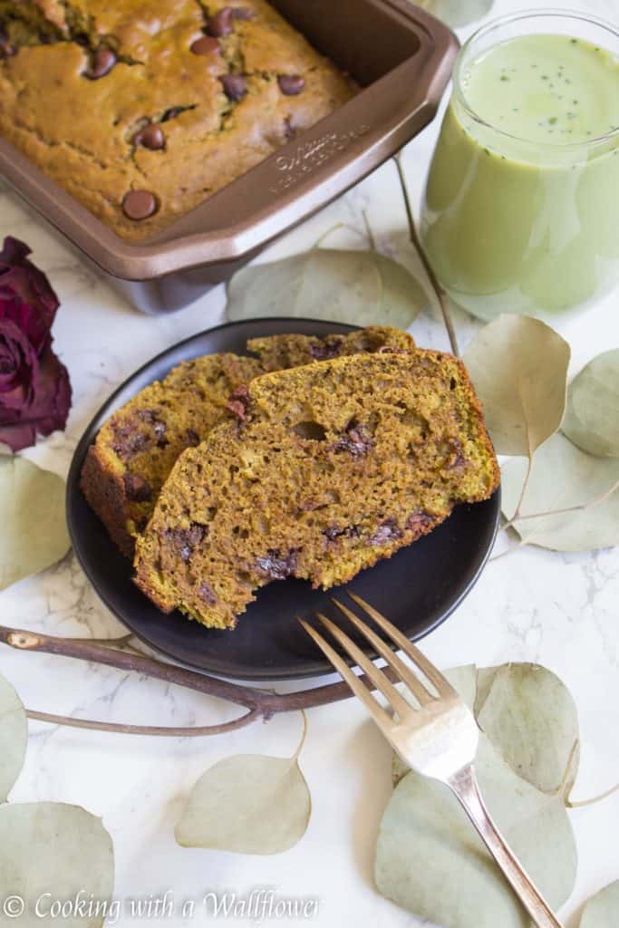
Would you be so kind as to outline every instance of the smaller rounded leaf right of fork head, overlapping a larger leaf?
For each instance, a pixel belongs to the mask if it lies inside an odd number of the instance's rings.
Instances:
[[[578,767],[578,715],[559,677],[539,664],[484,668],[475,717],[522,780],[542,793],[569,793]]]

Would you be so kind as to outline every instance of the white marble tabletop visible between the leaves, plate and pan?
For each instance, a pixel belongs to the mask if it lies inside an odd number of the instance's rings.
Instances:
[[[616,0],[573,5],[619,23]],[[521,7],[499,0],[495,12]],[[434,122],[406,148],[404,164],[415,199],[437,128]],[[338,224],[343,227],[332,232],[330,244],[364,247],[364,210],[380,250],[415,270],[393,163],[277,243],[263,260],[302,250]],[[213,290],[174,316],[141,316],[0,187],[0,234],[6,233],[29,242],[62,302],[54,334],[71,372],[71,419],[67,432],[27,454],[64,475],[84,426],[119,381],[153,354],[221,322],[225,294],[221,288]],[[474,324],[463,314],[456,321],[460,340],[466,342]],[[590,357],[619,344],[617,294],[557,328],[572,345],[576,371]],[[419,317],[412,332],[422,345],[447,347],[435,308]],[[602,793],[619,779],[618,602],[619,549],[562,555],[525,548],[490,563],[458,612],[423,643],[432,660],[444,667],[537,661],[562,677],[574,693],[582,728],[576,798]],[[45,574],[0,594],[0,611],[6,625],[54,635],[100,638],[123,632],[71,554]],[[185,690],[59,657],[2,649],[0,670],[29,708],[46,712],[174,726],[208,724],[232,715],[229,707]],[[172,891],[178,902],[200,900],[209,891],[243,896],[255,887],[273,887],[281,897],[318,899],[313,921],[321,928],[420,925],[372,886],[373,844],[391,789],[390,752],[355,702],[310,714],[302,767],[314,812],[303,841],[278,857],[182,849],[174,843],[174,823],[192,783],[218,759],[236,753],[290,754],[299,738],[300,715],[200,740],[131,738],[40,723],[31,723],[30,730],[26,764],[11,799],[77,803],[102,816],[114,840],[117,898]],[[574,895],[562,915],[575,928],[586,897],[619,877],[619,794],[575,810],[572,820],[580,865]],[[120,923],[152,921],[125,913]],[[189,925],[203,916],[184,919],[176,910],[165,921]],[[277,922],[292,925],[297,920]]]

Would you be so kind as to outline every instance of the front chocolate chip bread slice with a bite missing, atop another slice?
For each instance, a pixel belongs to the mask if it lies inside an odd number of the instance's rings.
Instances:
[[[257,588],[329,588],[390,557],[499,470],[462,363],[356,354],[253,380],[238,416],[187,450],[135,554],[163,612],[234,628]]]

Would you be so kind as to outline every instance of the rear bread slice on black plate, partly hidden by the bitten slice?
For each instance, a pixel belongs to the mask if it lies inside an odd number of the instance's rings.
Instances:
[[[413,346],[400,329],[371,327],[324,339],[253,339],[248,349],[257,357],[209,354],[187,361],[164,380],[149,384],[103,425],[84,461],[84,496],[118,548],[131,558],[135,535],[145,528],[176,459],[187,447],[200,444],[222,419],[230,394],[239,386],[265,371],[324,357]]]

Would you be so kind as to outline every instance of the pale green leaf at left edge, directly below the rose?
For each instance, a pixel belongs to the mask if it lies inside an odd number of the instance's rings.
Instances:
[[[0,589],[63,558],[71,547],[64,483],[26,458],[0,458]]]

